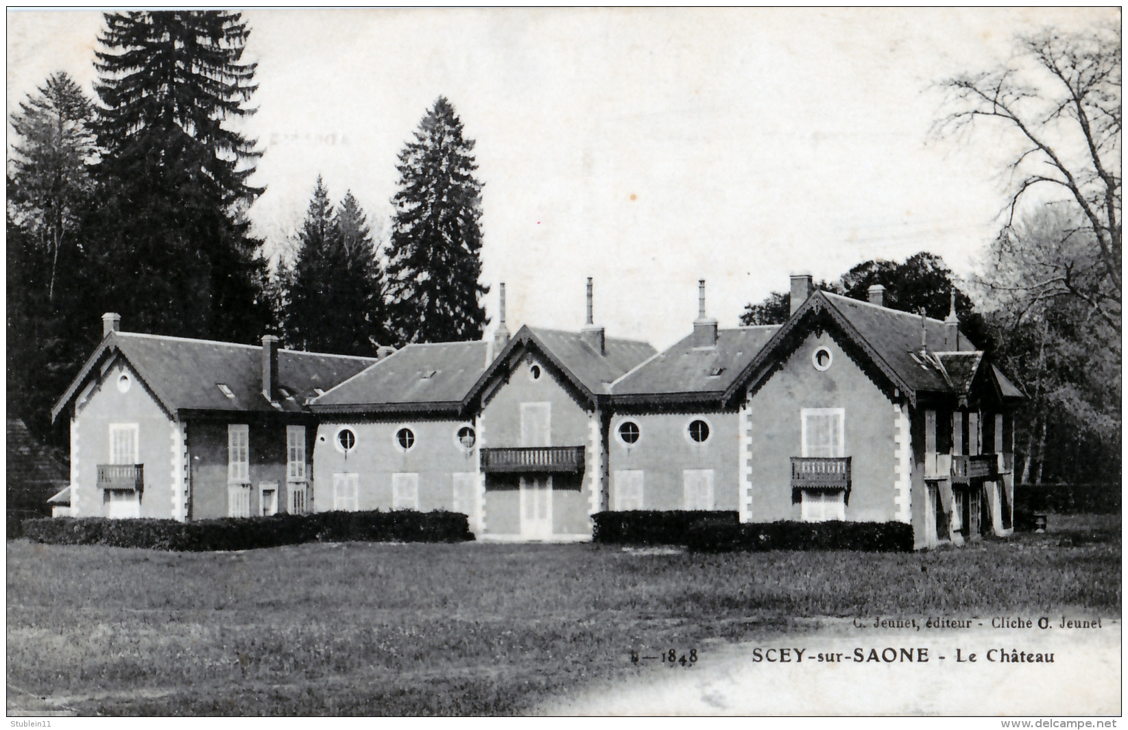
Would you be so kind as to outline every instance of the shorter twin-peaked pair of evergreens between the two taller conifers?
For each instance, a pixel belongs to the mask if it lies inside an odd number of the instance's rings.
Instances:
[[[317,178],[298,232],[292,266],[280,266],[287,287],[284,336],[290,346],[371,355],[387,342],[380,267],[367,217],[352,193],[334,211]]]

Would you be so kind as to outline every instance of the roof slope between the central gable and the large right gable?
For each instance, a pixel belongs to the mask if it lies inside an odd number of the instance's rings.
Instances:
[[[616,403],[643,402],[654,396],[720,398],[779,327],[717,329],[712,348],[695,348],[690,334],[617,380],[611,386],[613,397]]]

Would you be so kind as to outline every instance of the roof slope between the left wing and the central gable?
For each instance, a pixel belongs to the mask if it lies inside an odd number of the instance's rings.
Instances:
[[[485,371],[488,344],[409,344],[325,395],[310,401],[317,413],[459,410]]]

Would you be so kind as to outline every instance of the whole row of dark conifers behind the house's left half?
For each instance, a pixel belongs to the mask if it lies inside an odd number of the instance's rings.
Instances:
[[[399,155],[380,250],[351,192],[316,181],[297,248],[275,267],[247,211],[262,156],[239,131],[256,64],[238,12],[105,14],[88,97],[51,74],[10,114],[7,169],[8,410],[41,437],[102,338],[133,332],[372,355],[385,344],[473,340],[482,184],[474,141],[440,97]]]

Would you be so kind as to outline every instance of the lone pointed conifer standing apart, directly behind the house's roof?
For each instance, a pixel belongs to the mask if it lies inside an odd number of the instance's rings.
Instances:
[[[478,297],[482,183],[474,140],[439,97],[399,153],[399,192],[388,253],[391,320],[400,342],[477,340],[487,324]]]

